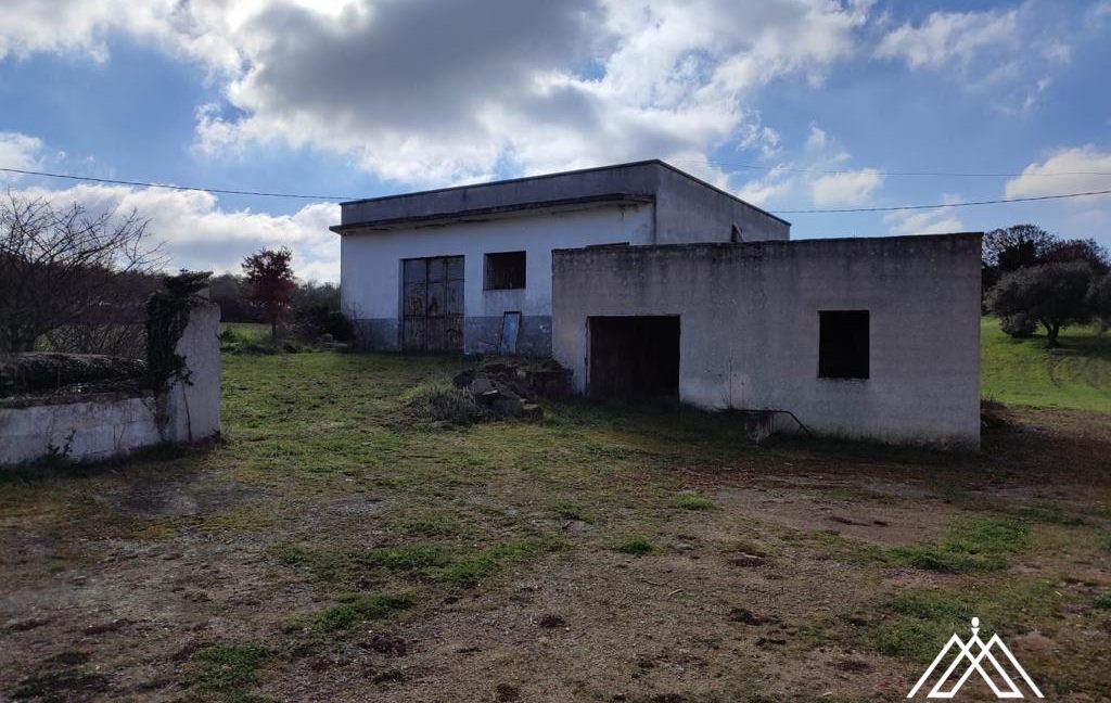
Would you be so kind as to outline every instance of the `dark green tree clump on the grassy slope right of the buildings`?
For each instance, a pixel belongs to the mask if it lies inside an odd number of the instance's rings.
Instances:
[[[1011,337],[1100,321],[1111,325],[1111,259],[1091,239],[1062,239],[1033,224],[992,230],[983,238],[984,307]]]

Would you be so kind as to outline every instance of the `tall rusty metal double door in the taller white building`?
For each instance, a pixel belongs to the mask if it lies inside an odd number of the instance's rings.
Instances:
[[[463,258],[404,259],[401,348],[463,350]]]

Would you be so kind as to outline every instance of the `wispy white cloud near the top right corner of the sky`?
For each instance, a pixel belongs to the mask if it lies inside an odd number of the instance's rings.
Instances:
[[[903,59],[911,68],[938,69],[952,62],[970,63],[982,50],[1013,47],[1018,11],[932,12],[918,27],[910,22],[892,30],[875,54]]]

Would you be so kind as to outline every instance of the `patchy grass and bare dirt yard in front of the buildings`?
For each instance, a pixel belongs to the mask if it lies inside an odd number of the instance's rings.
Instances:
[[[944,455],[410,410],[463,363],[226,354],[224,440],[0,476],[0,697],[891,701],[973,615],[1111,696],[1105,415]]]

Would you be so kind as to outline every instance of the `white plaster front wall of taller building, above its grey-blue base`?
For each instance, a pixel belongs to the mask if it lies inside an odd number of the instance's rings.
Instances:
[[[553,249],[615,242],[650,243],[652,205],[603,207],[573,212],[344,234],[340,241],[343,309],[357,320],[400,313],[401,260],[464,257],[463,307],[468,318],[551,314]],[[526,289],[483,291],[484,254],[526,251]]]

